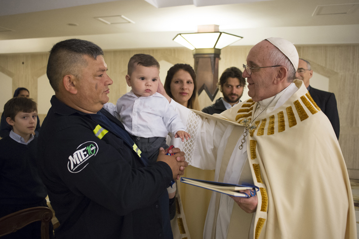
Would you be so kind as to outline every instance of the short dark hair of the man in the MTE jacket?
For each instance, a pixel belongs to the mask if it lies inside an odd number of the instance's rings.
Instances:
[[[103,51],[96,44],[81,39],[68,39],[53,46],[46,74],[55,92],[59,91],[59,84],[65,75],[81,77],[81,69],[87,66],[84,55],[96,60],[97,56],[103,55]]]

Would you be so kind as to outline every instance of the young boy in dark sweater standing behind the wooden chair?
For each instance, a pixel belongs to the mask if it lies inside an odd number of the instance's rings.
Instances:
[[[10,134],[0,140],[0,217],[32,207],[47,207],[47,191],[36,168],[36,103],[25,97],[4,106]],[[53,238],[50,223],[50,238]],[[41,238],[41,221],[33,222],[2,238]]]

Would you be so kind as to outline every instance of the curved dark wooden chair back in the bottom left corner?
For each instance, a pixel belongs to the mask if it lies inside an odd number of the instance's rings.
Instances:
[[[49,239],[49,222],[51,218],[52,211],[47,207],[20,210],[0,218],[0,236],[15,232],[32,222],[41,221],[41,239]]]

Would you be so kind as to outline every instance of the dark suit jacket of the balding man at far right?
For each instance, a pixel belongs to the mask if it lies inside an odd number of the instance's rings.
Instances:
[[[339,114],[337,108],[337,101],[335,99],[334,93],[330,93],[327,91],[321,91],[315,88],[312,88],[309,85],[309,94],[313,98],[314,102],[318,105],[319,108],[327,115],[330,123],[332,123],[334,132],[339,139]]]

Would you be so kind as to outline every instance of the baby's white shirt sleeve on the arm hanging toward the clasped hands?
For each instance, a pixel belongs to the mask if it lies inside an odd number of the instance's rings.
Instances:
[[[166,101],[166,109],[165,114],[163,115],[163,122],[168,132],[171,132],[174,136],[177,131],[186,131],[186,128],[174,107],[170,105],[166,98],[164,100]]]

